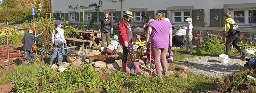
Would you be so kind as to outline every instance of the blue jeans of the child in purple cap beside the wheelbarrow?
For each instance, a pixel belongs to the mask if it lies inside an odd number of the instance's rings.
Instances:
[[[54,41],[53,50],[52,50],[52,58],[55,58],[58,53],[58,59],[62,59],[62,53],[64,51],[64,42],[58,40]]]

